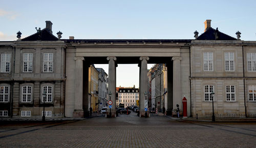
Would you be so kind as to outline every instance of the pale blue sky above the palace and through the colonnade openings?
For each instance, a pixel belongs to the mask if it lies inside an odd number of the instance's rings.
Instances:
[[[1,0],[0,41],[16,40],[18,31],[22,38],[34,34],[46,20],[52,21],[54,35],[63,33],[62,39],[194,39],[196,30],[203,33],[206,19],[220,32],[236,38],[240,31],[241,40],[255,41],[255,16],[256,1],[241,0]],[[138,75],[137,65],[119,65],[117,86],[138,87]]]

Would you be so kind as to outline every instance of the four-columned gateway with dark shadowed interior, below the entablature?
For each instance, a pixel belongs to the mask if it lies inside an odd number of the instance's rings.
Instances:
[[[176,109],[176,103],[180,102],[180,60],[181,57],[156,57],[156,56],[93,56],[75,57],[75,109],[74,116],[89,116],[90,95],[88,92],[88,68],[91,64],[109,64],[109,92],[111,92],[112,117],[116,108],[116,67],[118,64],[138,64],[139,67],[139,106],[140,116],[143,117],[144,93],[147,92],[147,64],[164,63],[167,67],[167,114],[171,115]],[[127,69],[128,70],[128,69]],[[177,98],[177,99],[174,99]],[[108,98],[109,99],[109,98]],[[179,104],[179,103],[178,103]],[[174,106],[175,105],[175,106]]]

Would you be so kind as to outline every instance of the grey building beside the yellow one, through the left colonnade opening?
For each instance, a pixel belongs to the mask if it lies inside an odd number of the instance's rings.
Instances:
[[[96,68],[99,72],[99,80],[98,80],[98,86],[99,86],[99,110],[102,107],[106,107],[108,102],[108,74],[105,73],[105,71],[102,68]]]

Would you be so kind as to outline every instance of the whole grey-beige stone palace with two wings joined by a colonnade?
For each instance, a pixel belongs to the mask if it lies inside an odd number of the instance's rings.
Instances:
[[[147,64],[166,66],[166,113],[182,110],[188,116],[207,117],[212,99],[217,117],[256,116],[256,41],[233,38],[210,26],[195,39],[90,40],[61,39],[52,33],[52,22],[26,38],[0,42],[0,116],[86,117],[89,115],[89,68],[109,64],[108,89],[115,115],[116,67],[140,68],[140,116],[144,116]],[[235,32],[234,32],[235,33]],[[215,93],[213,96],[211,93]]]

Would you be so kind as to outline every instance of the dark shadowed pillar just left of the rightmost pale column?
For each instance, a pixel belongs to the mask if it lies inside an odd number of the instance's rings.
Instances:
[[[169,62],[167,65],[167,108],[166,115],[173,114],[173,62]]]

